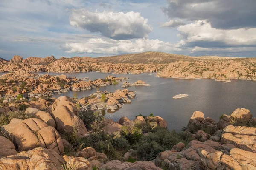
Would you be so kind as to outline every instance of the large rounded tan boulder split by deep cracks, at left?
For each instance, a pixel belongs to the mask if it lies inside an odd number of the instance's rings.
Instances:
[[[46,147],[57,153],[64,152],[63,142],[57,130],[41,119],[12,119],[8,125],[1,127],[1,131],[15,139],[18,150]]]

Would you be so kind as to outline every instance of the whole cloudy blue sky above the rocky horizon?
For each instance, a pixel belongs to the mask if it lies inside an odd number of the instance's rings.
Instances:
[[[256,57],[256,0],[0,0],[0,57]]]

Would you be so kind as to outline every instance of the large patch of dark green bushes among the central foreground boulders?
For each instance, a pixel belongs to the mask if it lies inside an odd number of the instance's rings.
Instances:
[[[152,160],[160,152],[170,150],[178,142],[187,144],[192,140],[186,132],[169,132],[166,128],[158,127],[154,122],[142,124],[140,121],[132,121],[122,126],[122,132],[108,134],[105,130],[105,123],[102,113],[97,111],[79,111],[79,117],[83,119],[88,133],[85,137],[79,136],[75,128],[72,133],[64,135],[72,145],[65,150],[65,154],[75,154],[84,147],[93,147],[96,152],[105,153],[108,159],[121,159],[122,155],[129,149],[138,150],[138,160]],[[148,133],[143,136],[143,133]],[[148,149],[150,148],[150,149]],[[137,161],[134,157],[129,162]]]

